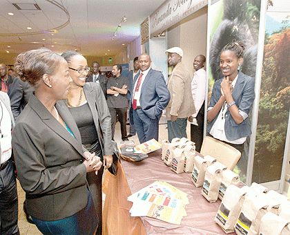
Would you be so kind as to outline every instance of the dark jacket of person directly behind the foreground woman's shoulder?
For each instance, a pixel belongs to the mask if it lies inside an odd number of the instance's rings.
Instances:
[[[19,114],[24,109],[30,96],[32,95],[32,86],[28,82],[23,82],[19,77],[15,77],[9,94],[11,102],[11,111],[16,122]]]

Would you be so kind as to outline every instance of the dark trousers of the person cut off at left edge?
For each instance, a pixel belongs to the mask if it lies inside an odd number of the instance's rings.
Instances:
[[[18,197],[12,160],[0,170],[0,234],[19,234]]]

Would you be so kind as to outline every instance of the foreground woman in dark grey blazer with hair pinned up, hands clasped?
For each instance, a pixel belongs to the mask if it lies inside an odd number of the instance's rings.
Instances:
[[[68,64],[39,48],[18,55],[14,71],[35,88],[12,134],[28,214],[43,234],[94,234],[97,215],[86,173],[97,173],[101,161],[81,146],[75,121],[57,104],[68,96]]]

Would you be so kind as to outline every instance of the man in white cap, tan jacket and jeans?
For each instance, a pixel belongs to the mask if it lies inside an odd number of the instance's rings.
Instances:
[[[173,47],[165,53],[168,64],[173,66],[167,85],[171,100],[166,106],[168,140],[171,142],[173,138],[187,138],[187,118],[195,113],[195,106],[191,94],[191,75],[182,64],[182,48]]]

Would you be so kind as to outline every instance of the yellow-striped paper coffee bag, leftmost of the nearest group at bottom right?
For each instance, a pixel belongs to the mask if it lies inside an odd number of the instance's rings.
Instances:
[[[235,231],[235,222],[238,219],[246,193],[235,185],[226,188],[222,203],[215,216],[215,222],[222,227],[226,234]]]

